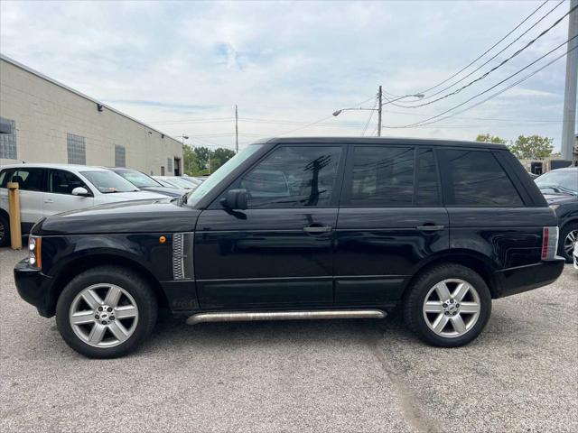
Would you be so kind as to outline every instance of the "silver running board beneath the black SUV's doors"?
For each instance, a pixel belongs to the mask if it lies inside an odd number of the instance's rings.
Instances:
[[[307,320],[320,318],[385,318],[381,309],[323,309],[312,311],[251,311],[197,313],[187,318],[187,325],[200,322],[247,322],[251,320]]]

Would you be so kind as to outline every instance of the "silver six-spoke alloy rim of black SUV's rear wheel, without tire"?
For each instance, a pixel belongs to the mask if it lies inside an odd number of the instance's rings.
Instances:
[[[480,318],[478,291],[467,281],[448,279],[438,282],[424,299],[424,319],[438,336],[466,334]]]

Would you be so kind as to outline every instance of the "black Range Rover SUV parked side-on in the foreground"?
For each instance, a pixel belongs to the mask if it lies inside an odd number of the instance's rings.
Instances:
[[[491,299],[560,275],[555,212],[502,145],[278,138],[183,198],[91,207],[33,227],[14,269],[92,357],[124,355],[158,309],[188,324],[384,318],[459,346]]]

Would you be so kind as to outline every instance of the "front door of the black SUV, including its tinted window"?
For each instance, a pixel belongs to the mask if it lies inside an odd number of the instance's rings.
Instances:
[[[322,306],[333,301],[332,243],[341,146],[279,145],[233,182],[248,208],[217,199],[195,234],[202,309]]]

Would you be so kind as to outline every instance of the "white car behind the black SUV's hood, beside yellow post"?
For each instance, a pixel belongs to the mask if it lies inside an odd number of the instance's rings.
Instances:
[[[86,165],[12,164],[0,167],[0,246],[10,243],[8,182],[18,182],[22,233],[52,214],[103,203],[166,198],[141,191],[116,173]]]

